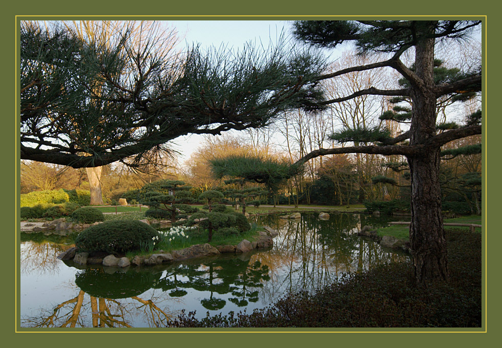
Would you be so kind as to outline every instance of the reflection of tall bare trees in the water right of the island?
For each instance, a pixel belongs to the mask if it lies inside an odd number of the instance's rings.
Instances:
[[[357,234],[364,225],[383,226],[387,220],[391,217],[332,214],[324,221],[318,219],[318,213],[302,213],[302,219],[292,220],[277,219],[276,215],[255,217],[258,225],[279,232],[272,250],[252,257],[268,266],[273,279],[263,287],[262,297],[272,302],[287,292],[316,291],[343,274],[406,260],[404,252],[386,252]]]

